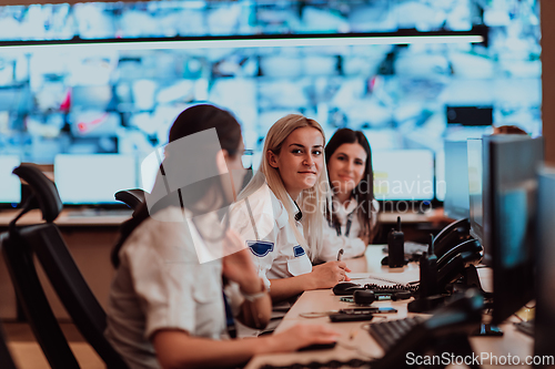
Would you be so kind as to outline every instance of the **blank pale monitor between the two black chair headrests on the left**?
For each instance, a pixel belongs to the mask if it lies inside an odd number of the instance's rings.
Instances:
[[[118,204],[114,194],[137,187],[134,156],[57,155],[54,182],[63,204]]]

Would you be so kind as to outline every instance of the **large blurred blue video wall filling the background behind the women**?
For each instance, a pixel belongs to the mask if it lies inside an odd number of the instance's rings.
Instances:
[[[203,38],[487,30],[483,43],[119,50],[37,47],[43,40]],[[152,1],[0,8],[0,154],[142,157],[179,112],[211,102],[234,112],[246,148],[301,112],[327,136],[363,130],[373,150],[443,151],[487,133],[452,106],[491,109],[494,125],[541,134],[535,0]],[[8,48],[12,45],[14,48]],[[21,48],[24,47],[24,48]],[[488,111],[488,110],[487,110]],[[487,121],[487,119],[486,119]],[[458,124],[457,124],[458,123]],[[484,122],[475,122],[484,124]],[[487,124],[487,122],[486,122]]]

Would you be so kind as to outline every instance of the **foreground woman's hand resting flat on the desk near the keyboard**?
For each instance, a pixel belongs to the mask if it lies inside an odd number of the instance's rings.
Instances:
[[[272,351],[291,352],[309,345],[335,342],[339,336],[339,332],[325,326],[296,325],[268,339],[271,340]]]

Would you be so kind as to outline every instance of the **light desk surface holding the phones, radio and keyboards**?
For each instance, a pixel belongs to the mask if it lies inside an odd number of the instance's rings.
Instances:
[[[390,273],[387,267],[382,267],[380,265],[381,257],[381,246],[369,246],[364,257],[345,262],[347,262],[347,265],[353,271],[369,271],[372,274],[387,273],[387,277],[400,281],[411,281],[418,278],[417,266],[408,265],[404,267],[404,269],[398,269],[402,270],[402,273],[396,269],[391,269],[392,273]],[[478,271],[482,280],[484,281],[484,289],[490,289],[488,286],[491,286],[491,280],[488,279],[491,278],[487,278],[487,271],[490,270],[478,269]],[[391,306],[398,310],[396,315],[383,315],[383,319],[401,319],[414,315],[412,312],[407,312],[406,301],[376,301],[374,303],[374,306]],[[369,332],[361,328],[364,325],[363,321],[332,324],[327,317],[306,319],[299,316],[300,312],[336,310],[347,307],[352,307],[352,304],[340,301],[340,297],[334,296],[329,289],[305,291],[285,315],[282,322],[278,327],[276,332],[283,331],[296,324],[329,325],[341,334],[337,339],[337,346],[332,350],[256,356],[249,362],[246,369],[256,369],[264,363],[287,366],[294,362],[325,362],[333,359],[344,361],[353,358],[367,360],[382,357],[384,355],[382,348],[374,341]],[[377,317],[374,317],[374,320],[376,319]],[[521,362],[524,362],[526,356],[532,355],[533,339],[517,331],[511,322],[504,324],[502,329],[505,332],[503,337],[472,337],[471,345],[474,352],[477,355],[481,352],[487,352],[497,357],[511,353],[511,356],[519,357]],[[351,336],[353,335],[354,338],[351,339]],[[493,368],[495,366],[488,366],[484,362],[484,367]],[[525,365],[512,366],[512,368],[525,367]]]

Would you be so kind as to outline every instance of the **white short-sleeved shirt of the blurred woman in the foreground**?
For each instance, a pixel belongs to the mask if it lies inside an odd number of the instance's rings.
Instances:
[[[191,238],[198,230],[183,222],[181,209],[169,207],[157,218],[179,221],[148,218],[132,232],[108,301],[105,336],[132,369],[160,368],[150,341],[159,329],[226,337],[221,259],[199,264]],[[233,299],[238,310],[242,300]]]

